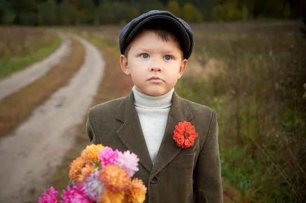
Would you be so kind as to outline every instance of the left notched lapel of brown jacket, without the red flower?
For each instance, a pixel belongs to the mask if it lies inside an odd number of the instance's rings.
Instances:
[[[117,130],[117,135],[124,143],[125,147],[136,154],[139,158],[139,162],[148,171],[151,171],[152,162],[135,109],[133,92],[121,102],[117,110],[116,119],[124,123]]]

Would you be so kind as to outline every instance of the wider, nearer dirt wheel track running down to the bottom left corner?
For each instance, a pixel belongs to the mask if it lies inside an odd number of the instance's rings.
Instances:
[[[38,196],[73,146],[75,126],[82,122],[104,73],[97,48],[74,36],[85,47],[85,62],[68,85],[55,92],[20,125],[0,139],[0,202],[27,202]],[[37,196],[37,198],[38,198]]]

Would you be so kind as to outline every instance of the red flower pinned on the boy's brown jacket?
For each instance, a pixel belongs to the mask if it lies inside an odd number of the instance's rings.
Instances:
[[[198,136],[194,126],[191,126],[191,123],[187,121],[184,121],[184,123],[180,122],[179,125],[176,125],[173,132],[173,139],[177,146],[185,149],[193,146],[194,139]]]

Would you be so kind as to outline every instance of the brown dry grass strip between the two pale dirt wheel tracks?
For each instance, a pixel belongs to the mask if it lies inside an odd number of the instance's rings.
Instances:
[[[20,91],[8,96],[0,103],[0,136],[12,133],[27,119],[33,109],[46,101],[48,97],[67,84],[84,61],[83,46],[72,40],[71,53],[65,62],[52,68],[45,76]]]

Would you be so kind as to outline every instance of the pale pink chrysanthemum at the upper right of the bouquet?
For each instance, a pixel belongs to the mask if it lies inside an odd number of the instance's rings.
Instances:
[[[120,168],[123,168],[129,176],[133,177],[136,171],[139,170],[138,166],[139,158],[136,154],[131,153],[129,150],[125,152],[119,152],[115,164]]]

